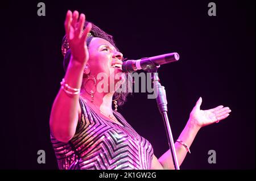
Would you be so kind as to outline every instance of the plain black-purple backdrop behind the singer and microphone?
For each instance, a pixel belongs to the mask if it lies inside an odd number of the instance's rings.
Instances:
[[[125,57],[178,52],[159,69],[176,140],[199,96],[201,109],[229,106],[230,116],[197,134],[181,169],[255,169],[255,1],[40,1],[1,2],[0,169],[57,169],[49,114],[60,81],[61,40],[67,10],[114,36]],[[120,112],[160,157],[168,149],[155,100],[136,93]],[[208,150],[217,163],[208,163]],[[37,151],[46,151],[39,165]]]

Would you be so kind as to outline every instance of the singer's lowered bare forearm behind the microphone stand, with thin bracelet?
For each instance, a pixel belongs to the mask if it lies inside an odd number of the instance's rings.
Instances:
[[[192,120],[188,120],[187,124],[185,125],[185,128],[183,129],[179,136],[179,139],[185,142],[188,145],[188,148],[190,148],[199,129],[200,128],[197,125],[193,124]],[[179,142],[175,142],[175,150],[177,160],[179,162],[179,165],[181,165],[181,163],[184,161],[185,156],[187,155],[187,150]],[[164,153],[162,157],[158,159],[158,161],[161,163],[164,169],[175,169],[170,150],[166,151],[166,153]]]

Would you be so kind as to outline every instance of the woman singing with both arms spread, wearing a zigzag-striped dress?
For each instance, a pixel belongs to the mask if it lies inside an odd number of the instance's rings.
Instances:
[[[127,92],[115,90],[127,75],[121,69],[123,54],[112,36],[77,11],[67,12],[65,32],[61,47],[65,76],[49,121],[59,169],[174,169],[171,151],[156,158],[150,142],[117,112]],[[105,81],[97,79],[99,74]],[[224,106],[200,110],[201,103],[199,98],[175,142],[179,164],[200,128],[218,123],[231,112]]]

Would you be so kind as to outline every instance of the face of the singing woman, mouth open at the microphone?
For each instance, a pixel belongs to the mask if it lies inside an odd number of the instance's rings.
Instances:
[[[122,71],[122,58],[123,54],[118,52],[109,41],[100,37],[94,37],[90,41],[88,61],[90,74],[96,79],[104,76],[104,83],[108,85],[108,90],[112,90],[109,87],[111,84],[114,84],[116,90],[116,86],[119,87],[119,84],[125,80],[125,73]],[[102,79],[98,79],[101,84]]]

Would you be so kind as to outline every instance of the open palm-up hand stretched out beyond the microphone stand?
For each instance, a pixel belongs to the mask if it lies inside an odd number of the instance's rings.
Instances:
[[[217,106],[210,110],[200,110],[202,104],[202,98],[196,102],[196,106],[190,113],[189,120],[198,127],[204,127],[212,123],[218,123],[229,116],[231,112],[229,107]]]

